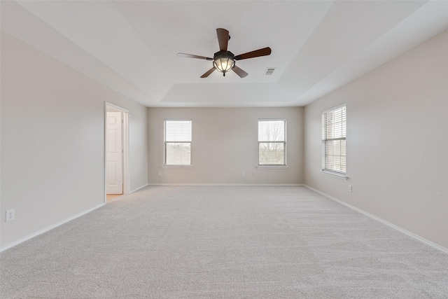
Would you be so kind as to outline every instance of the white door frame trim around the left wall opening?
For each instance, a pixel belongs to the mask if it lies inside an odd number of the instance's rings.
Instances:
[[[104,102],[104,203],[107,202],[107,108],[121,112],[123,119],[121,142],[123,144],[123,195],[130,194],[129,179],[129,110]]]

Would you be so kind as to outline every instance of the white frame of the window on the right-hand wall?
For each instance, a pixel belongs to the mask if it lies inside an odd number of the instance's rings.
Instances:
[[[342,116],[341,116],[342,122],[343,122],[343,123],[341,122],[342,123],[341,135],[343,135],[343,136],[328,138],[326,136],[326,134],[328,133],[328,126],[326,126],[328,124],[325,124],[326,115],[328,113],[334,113],[335,111],[337,111],[338,109],[341,109],[341,108],[344,108],[344,112],[342,113]],[[345,168],[345,171],[337,170],[337,169],[335,169],[335,167],[333,167],[333,169],[329,168],[329,165],[327,163],[327,160],[328,160],[327,159],[327,157],[328,157],[327,144],[332,141],[345,141],[344,142],[345,155],[342,155],[341,153],[339,153],[339,161],[341,161],[340,157],[343,157],[343,156],[345,157],[344,165],[343,165]],[[347,176],[346,176],[346,173],[347,173],[347,170],[346,170],[346,166],[347,166],[346,165],[346,162],[347,162],[346,161],[346,103],[342,103],[342,104],[334,106],[330,109],[322,111],[322,113],[321,113],[321,142],[322,142],[322,144],[321,144],[321,148],[322,148],[322,150],[321,150],[322,151],[321,152],[321,159],[322,159],[321,160],[321,172],[323,172],[324,174],[330,174],[332,176],[337,176],[341,179],[347,179]],[[342,162],[339,162],[339,165],[342,165]]]

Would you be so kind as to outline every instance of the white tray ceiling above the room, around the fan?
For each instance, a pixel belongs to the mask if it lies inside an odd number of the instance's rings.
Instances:
[[[272,54],[200,78],[176,53],[213,57],[219,27]],[[1,29],[145,106],[304,106],[448,29],[448,1],[1,1]]]

